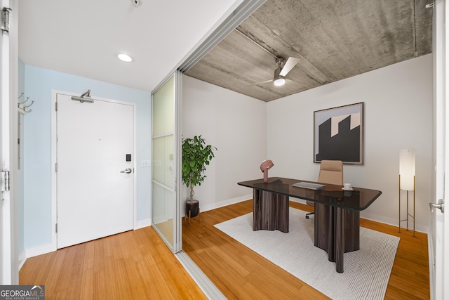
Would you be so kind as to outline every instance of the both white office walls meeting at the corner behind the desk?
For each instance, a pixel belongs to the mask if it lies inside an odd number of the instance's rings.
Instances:
[[[397,226],[399,150],[415,148],[416,229],[427,233],[432,174],[431,60],[431,55],[422,56],[269,103],[185,76],[183,136],[202,134],[218,148],[206,170],[208,178],[195,189],[201,211],[250,199],[251,192],[236,183],[262,178],[259,166],[263,159],[274,162],[269,176],[316,180],[314,111],[363,102],[364,164],[345,165],[344,180],[382,190],[382,195],[361,216]],[[187,188],[184,195],[187,198]],[[401,219],[405,217],[403,210]]]

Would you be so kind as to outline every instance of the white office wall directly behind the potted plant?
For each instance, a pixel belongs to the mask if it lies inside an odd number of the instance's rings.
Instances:
[[[251,199],[253,191],[237,183],[263,177],[266,103],[192,77],[184,76],[182,85],[182,136],[201,134],[217,147],[207,178],[195,188],[201,211]],[[188,195],[185,188],[182,198]]]

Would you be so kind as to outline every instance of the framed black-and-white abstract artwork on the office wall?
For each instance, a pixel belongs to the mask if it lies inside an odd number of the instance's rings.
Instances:
[[[363,164],[363,102],[314,112],[314,162]]]

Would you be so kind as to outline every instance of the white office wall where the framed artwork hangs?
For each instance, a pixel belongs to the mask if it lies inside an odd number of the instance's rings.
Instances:
[[[432,175],[431,55],[267,103],[267,156],[275,164],[270,176],[316,180],[314,111],[359,102],[365,106],[365,159],[363,166],[344,165],[344,181],[382,191],[361,216],[398,225],[399,150],[414,148],[416,228],[427,233]],[[401,219],[405,217],[404,210]]]

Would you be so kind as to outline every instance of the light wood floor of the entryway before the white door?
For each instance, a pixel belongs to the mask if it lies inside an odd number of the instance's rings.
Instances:
[[[55,299],[206,299],[152,227],[27,259],[20,285]]]

